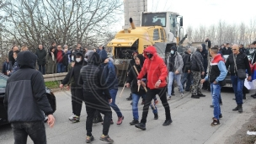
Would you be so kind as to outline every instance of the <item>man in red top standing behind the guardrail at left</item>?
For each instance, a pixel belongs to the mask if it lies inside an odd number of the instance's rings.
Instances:
[[[57,73],[64,72],[63,56],[64,51],[61,50],[61,45],[58,45],[57,50],[55,51]]]

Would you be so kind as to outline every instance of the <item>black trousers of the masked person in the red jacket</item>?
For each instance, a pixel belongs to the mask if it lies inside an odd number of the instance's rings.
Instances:
[[[165,117],[166,117],[165,119],[171,120],[170,107],[169,107],[169,104],[168,104],[167,98],[166,98],[166,89],[167,89],[167,87],[147,90],[146,99],[145,99],[145,103],[143,106],[141,123],[145,124],[147,122],[147,114],[148,114],[149,106],[151,104],[152,99],[154,99],[157,94],[158,94],[159,98],[161,99],[161,102],[162,102],[164,110],[165,110]]]

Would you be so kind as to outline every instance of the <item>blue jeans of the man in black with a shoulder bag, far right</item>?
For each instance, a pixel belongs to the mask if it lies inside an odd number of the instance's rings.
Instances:
[[[236,96],[237,104],[243,104],[243,84],[244,79],[237,76],[231,76],[233,90]]]

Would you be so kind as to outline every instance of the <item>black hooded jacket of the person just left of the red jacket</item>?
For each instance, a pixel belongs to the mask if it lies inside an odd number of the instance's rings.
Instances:
[[[144,56],[142,55],[138,55],[137,56],[140,61],[141,61],[141,64],[140,65],[136,65],[136,63],[133,65],[136,67],[138,73],[141,72],[141,67],[143,67],[143,64],[144,64]],[[140,91],[138,92],[138,84],[137,84],[137,73],[136,73],[136,70],[134,67],[131,67],[130,70],[129,70],[129,73],[128,73],[128,76],[127,76],[127,80],[126,80],[126,83],[130,83],[131,84],[131,93],[136,93],[138,95],[142,95],[142,94],[145,94],[146,91],[144,90],[144,88],[140,88]],[[143,78],[147,78],[147,75],[145,75]]]

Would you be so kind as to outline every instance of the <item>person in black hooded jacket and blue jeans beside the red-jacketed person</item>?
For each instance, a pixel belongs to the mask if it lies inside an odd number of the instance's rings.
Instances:
[[[138,91],[138,84],[137,84],[137,73],[136,72],[141,72],[141,67],[143,67],[144,63],[144,57],[142,55],[137,55],[135,58],[136,62],[131,67],[130,72],[128,73],[127,80],[126,80],[126,87],[130,88],[131,87],[131,93],[132,93],[132,115],[133,115],[133,120],[130,122],[130,125],[135,125],[139,123],[139,114],[138,114],[138,102],[140,98],[145,99],[146,97],[146,90],[144,88],[146,87],[147,82],[147,76],[144,76],[142,79],[142,86],[140,90]],[[136,69],[135,69],[136,67]],[[154,120],[158,119],[158,114],[157,114],[157,106],[156,104],[151,104],[150,105],[154,114]]]

